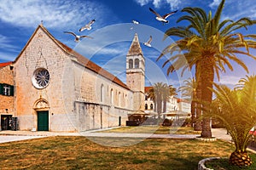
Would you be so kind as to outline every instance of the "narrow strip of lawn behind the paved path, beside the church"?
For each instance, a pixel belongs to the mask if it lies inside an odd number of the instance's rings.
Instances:
[[[156,133],[156,134],[201,134],[201,131],[194,131],[193,127],[162,127],[162,126],[137,126],[119,127],[109,130],[98,131],[100,133]]]

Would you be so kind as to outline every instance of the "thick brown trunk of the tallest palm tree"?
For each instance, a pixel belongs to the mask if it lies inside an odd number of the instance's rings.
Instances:
[[[209,108],[208,105],[212,103],[212,85],[214,80],[214,57],[209,54],[203,54],[205,56],[202,58],[201,64],[201,78],[204,80],[201,82],[201,100],[203,102],[202,108]],[[211,128],[211,118],[204,117],[202,122],[201,130],[202,138],[212,138],[212,128]]]

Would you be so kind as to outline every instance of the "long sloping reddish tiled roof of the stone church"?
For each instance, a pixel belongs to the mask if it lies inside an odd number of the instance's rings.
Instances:
[[[83,55],[75,52],[72,48],[69,48],[67,45],[65,45],[64,43],[60,42],[59,40],[55,39],[55,37],[53,37],[49,31],[43,26],[43,25],[39,25],[38,28],[36,29],[36,31],[34,31],[34,33],[32,34],[32,37],[35,36],[36,32],[38,31],[38,29],[41,28],[60,48],[62,48],[67,54],[72,55],[74,58],[77,59],[77,61],[81,64],[84,65],[85,68],[89,69],[90,71],[94,71],[97,74],[101,75],[102,77],[107,78],[108,80],[110,80],[111,82],[115,82],[117,84],[119,84],[119,86],[126,88],[126,89],[130,89],[126,86],[126,84],[122,81],[119,80],[118,77],[113,76],[113,74],[111,74],[110,72],[106,71],[105,69],[103,69],[101,66],[96,65],[94,62],[90,61],[90,59],[85,58]],[[26,46],[29,44],[29,42],[31,42],[32,37],[29,39],[28,42],[26,42]],[[20,54],[18,55],[18,57],[15,59],[14,62],[16,62],[19,58],[20,55],[23,53],[23,51],[26,49],[26,46],[21,50]]]

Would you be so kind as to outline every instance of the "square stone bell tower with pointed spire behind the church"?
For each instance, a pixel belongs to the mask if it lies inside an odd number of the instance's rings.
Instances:
[[[145,111],[145,59],[137,33],[126,54],[126,84],[134,92],[134,110],[137,114],[143,114]]]

